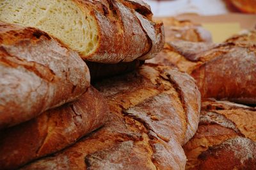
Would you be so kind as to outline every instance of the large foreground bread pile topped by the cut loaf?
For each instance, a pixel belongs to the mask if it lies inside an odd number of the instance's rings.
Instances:
[[[0,169],[185,168],[200,92],[143,65],[164,45],[147,4],[1,1],[0,21]]]

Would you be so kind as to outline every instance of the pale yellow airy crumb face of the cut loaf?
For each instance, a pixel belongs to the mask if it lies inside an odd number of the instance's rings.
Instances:
[[[96,20],[74,1],[1,0],[0,5],[0,20],[4,22],[37,27],[84,56],[97,47]]]

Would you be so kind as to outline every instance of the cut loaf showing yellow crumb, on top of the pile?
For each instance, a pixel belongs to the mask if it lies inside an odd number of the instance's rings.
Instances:
[[[42,29],[99,63],[153,58],[164,44],[163,24],[141,0],[6,0],[0,20]]]

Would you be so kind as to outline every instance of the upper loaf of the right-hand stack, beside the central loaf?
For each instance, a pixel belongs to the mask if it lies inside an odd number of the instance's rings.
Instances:
[[[151,62],[192,75],[203,98],[256,104],[255,43],[170,42]]]

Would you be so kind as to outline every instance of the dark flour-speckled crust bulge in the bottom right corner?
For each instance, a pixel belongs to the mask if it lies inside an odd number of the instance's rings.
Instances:
[[[212,146],[199,156],[198,169],[255,169],[256,143],[236,137]]]

